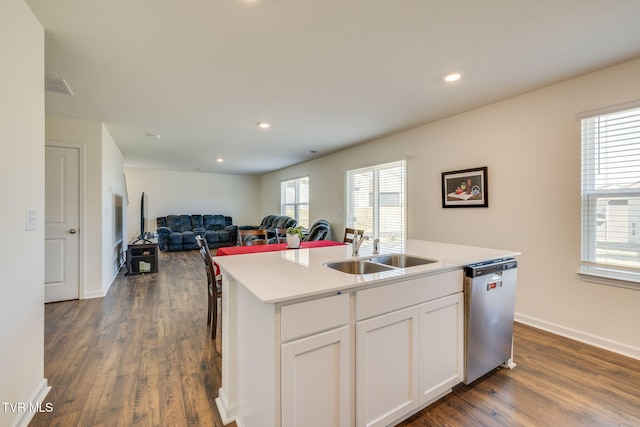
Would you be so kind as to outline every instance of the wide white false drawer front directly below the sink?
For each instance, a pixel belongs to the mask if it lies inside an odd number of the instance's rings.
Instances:
[[[461,292],[462,284],[462,270],[456,270],[358,291],[356,320]]]

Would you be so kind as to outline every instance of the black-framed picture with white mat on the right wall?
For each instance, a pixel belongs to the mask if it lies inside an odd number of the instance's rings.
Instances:
[[[489,207],[487,172],[486,166],[442,172],[442,207]]]

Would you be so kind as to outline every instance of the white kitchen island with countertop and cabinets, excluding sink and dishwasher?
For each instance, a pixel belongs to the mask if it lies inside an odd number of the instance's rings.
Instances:
[[[371,274],[325,266],[354,259],[351,251],[215,258],[225,422],[377,426],[421,410],[463,379],[462,268],[519,255],[407,240],[394,252],[435,262]]]

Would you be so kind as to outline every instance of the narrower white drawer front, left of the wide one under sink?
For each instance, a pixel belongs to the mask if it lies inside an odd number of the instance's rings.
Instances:
[[[280,338],[289,341],[348,323],[348,294],[285,305],[280,311]]]

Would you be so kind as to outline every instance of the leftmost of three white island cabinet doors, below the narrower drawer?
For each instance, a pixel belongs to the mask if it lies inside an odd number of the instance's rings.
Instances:
[[[349,328],[282,345],[282,426],[350,423]]]

